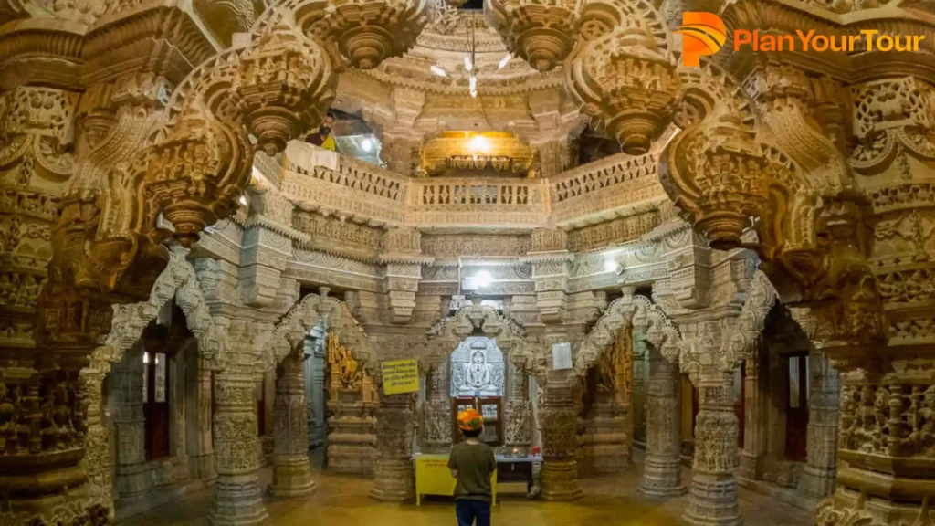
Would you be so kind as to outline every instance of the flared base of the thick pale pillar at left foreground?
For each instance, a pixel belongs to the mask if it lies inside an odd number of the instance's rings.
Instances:
[[[268,519],[256,473],[219,475],[209,520],[213,526],[252,526]]]

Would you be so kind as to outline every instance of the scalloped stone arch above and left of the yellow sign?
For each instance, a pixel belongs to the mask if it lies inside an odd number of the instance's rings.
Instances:
[[[286,313],[273,328],[269,341],[263,345],[262,364],[267,370],[276,367],[283,358],[305,341],[309,328],[323,323],[328,332],[337,334],[340,342],[351,350],[374,381],[380,380],[377,352],[367,333],[353,318],[347,304],[337,298],[309,294]]]

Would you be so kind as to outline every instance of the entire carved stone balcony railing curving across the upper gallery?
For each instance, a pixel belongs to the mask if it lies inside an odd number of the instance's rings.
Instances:
[[[668,200],[655,152],[612,155],[549,179],[412,179],[299,142],[278,172],[273,159],[263,161],[260,173],[281,180],[297,206],[370,226],[580,228]]]

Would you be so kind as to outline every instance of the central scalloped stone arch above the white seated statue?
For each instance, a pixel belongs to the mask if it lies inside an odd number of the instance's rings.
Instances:
[[[507,354],[513,365],[521,369],[532,367],[533,352],[531,343],[526,339],[525,329],[493,307],[467,305],[428,329],[426,352],[420,358],[423,370],[441,362],[476,329],[481,329],[485,336],[493,338],[496,346]]]

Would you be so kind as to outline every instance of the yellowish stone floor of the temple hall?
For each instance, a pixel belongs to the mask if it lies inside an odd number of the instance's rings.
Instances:
[[[317,463],[317,462],[313,462]],[[543,503],[525,499],[504,500],[494,510],[494,524],[528,526],[681,525],[687,496],[669,501],[645,499],[637,492],[638,469],[624,475],[583,480],[584,498],[576,503]],[[685,472],[685,480],[690,474]],[[270,469],[262,472],[261,482],[270,482]],[[316,470],[318,489],[307,499],[268,500],[270,524],[301,526],[439,526],[454,524],[453,504],[424,502],[380,504],[367,498],[369,480],[348,475],[332,475]],[[207,523],[210,490],[193,494],[180,502],[149,514],[121,522],[121,526],[178,525]],[[741,514],[746,526],[806,526],[814,515],[769,497],[741,490]]]

